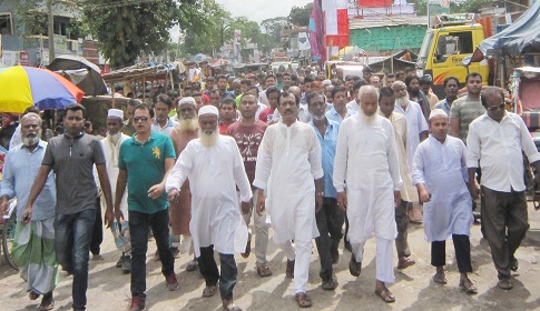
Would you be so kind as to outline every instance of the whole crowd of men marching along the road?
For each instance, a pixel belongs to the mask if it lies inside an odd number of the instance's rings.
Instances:
[[[89,133],[86,109],[72,104],[65,132],[46,142],[39,110],[28,109],[7,152],[0,202],[6,211],[18,199],[12,255],[30,299],[42,297],[39,310],[55,305],[59,265],[73,275],[73,310],[86,310],[101,222],[119,250],[117,267],[130,273],[131,311],[146,304],[149,237],[167,290],[178,289],[175,258],[184,245],[194,252],[186,269],[205,279],[203,297],[219,290],[225,310],[240,310],[235,254],[249,257],[255,240],[256,272],[272,275],[269,228],[301,308],[312,305],[313,239],[322,289],[334,290],[341,240],[359,277],[374,237],[375,294],[395,301],[387,288],[394,267],[415,264],[409,221],[424,223],[436,283],[446,283],[452,238],[459,287],[473,294],[469,235],[480,198],[498,287],[511,289],[514,253],[529,228],[523,154],[538,170],[540,154],[522,119],[505,110],[503,90],[482,90],[482,77],[470,73],[458,98],[459,81],[449,77],[440,101],[431,81],[414,72],[386,74],[383,86],[369,67],[363,77],[336,69],[332,80],[320,69],[302,70],[261,81],[207,78],[205,90],[194,82],[181,97],[155,97],[153,106],[131,99],[125,110],[108,111],[101,139]]]

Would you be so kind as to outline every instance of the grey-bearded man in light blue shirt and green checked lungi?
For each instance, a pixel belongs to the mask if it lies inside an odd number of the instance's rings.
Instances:
[[[21,119],[20,138],[22,144],[11,148],[3,167],[0,188],[0,214],[9,208],[9,199],[17,197],[17,228],[11,254],[27,282],[26,290],[31,300],[43,295],[39,310],[55,307],[52,290],[58,282],[58,263],[55,254],[55,204],[56,185],[52,172],[47,175],[43,191],[33,204],[30,223],[24,223],[24,210],[32,182],[47,148],[41,141],[41,118],[30,112]]]

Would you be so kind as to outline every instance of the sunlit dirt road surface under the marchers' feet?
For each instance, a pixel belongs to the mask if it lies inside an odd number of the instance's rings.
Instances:
[[[375,243],[366,243],[362,274],[348,273],[348,251],[340,250],[340,262],[334,265],[338,287],[323,291],[318,277],[320,262],[315,243],[310,267],[310,310],[540,310],[540,211],[529,207],[531,228],[517,252],[520,269],[514,273],[514,288],[504,291],[497,288],[497,271],[491,261],[488,242],[481,238],[480,225],[473,225],[471,253],[474,272],[471,279],[479,293],[468,295],[460,291],[458,265],[452,242],[446,243],[446,285],[431,281],[434,268],[430,265],[430,244],[424,240],[423,227],[410,224],[409,242],[416,264],[403,271],[395,270],[396,282],[390,287],[395,294],[394,303],[385,303],[374,294]],[[272,232],[271,232],[272,239]],[[175,268],[180,287],[170,292],[165,289],[160,262],[155,260],[156,244],[149,243],[147,259],[147,310],[222,310],[219,294],[202,298],[204,280],[198,271],[187,272],[189,254],[181,254]],[[115,249],[109,231],[105,232],[104,261],[90,261],[90,280],[87,310],[127,310],[130,303],[129,274],[115,267],[119,252]],[[395,257],[395,254],[394,254]],[[2,258],[3,259],[3,258]],[[244,310],[300,310],[294,301],[293,281],[285,278],[283,252],[271,241],[269,268],[274,274],[261,279],[255,271],[255,255],[236,257],[239,281],[234,290],[235,301]],[[396,259],[394,258],[396,262]],[[71,310],[71,277],[60,274],[55,290],[55,310]],[[36,310],[39,300],[30,301],[23,290],[23,281],[3,261],[0,264],[0,310]]]

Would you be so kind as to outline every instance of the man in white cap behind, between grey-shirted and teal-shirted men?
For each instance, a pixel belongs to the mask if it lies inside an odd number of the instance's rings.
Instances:
[[[116,187],[118,178],[118,154],[120,153],[120,146],[124,141],[129,139],[128,136],[120,132],[124,122],[124,111],[119,109],[109,109],[107,112],[107,137],[99,142],[104,149],[105,164],[107,174],[112,187]],[[96,181],[98,180],[97,171],[94,171]],[[96,182],[96,184],[99,184]],[[112,191],[112,201],[116,200],[116,192]],[[106,209],[105,200],[100,200],[101,209]],[[120,259],[116,263],[117,268],[121,268],[124,273],[131,272],[131,242],[129,239],[128,225],[128,202],[127,192],[121,197],[120,209],[125,215],[124,222],[115,221],[110,224],[112,237],[118,250],[121,251]]]

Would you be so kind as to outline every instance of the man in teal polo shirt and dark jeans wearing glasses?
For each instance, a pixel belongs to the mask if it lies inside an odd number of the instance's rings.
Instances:
[[[129,232],[131,234],[131,307],[130,311],[145,309],[146,252],[148,231],[151,227],[156,239],[161,273],[167,289],[178,289],[175,258],[169,249],[169,203],[165,193],[165,180],[175,165],[175,149],[168,136],[151,131],[154,110],[146,104],[134,111],[137,133],[126,140],[118,156],[118,181],[116,187],[115,217],[124,222],[121,198],[128,190]],[[112,222],[111,211],[107,221]]]

